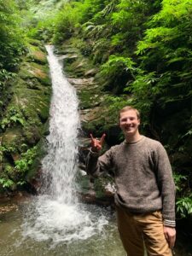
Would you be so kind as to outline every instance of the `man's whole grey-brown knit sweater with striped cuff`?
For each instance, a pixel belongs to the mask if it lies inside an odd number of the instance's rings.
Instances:
[[[100,157],[90,151],[86,167],[94,177],[113,170],[117,206],[133,213],[161,210],[164,224],[175,226],[172,167],[159,142],[142,136],[136,143],[121,143]]]

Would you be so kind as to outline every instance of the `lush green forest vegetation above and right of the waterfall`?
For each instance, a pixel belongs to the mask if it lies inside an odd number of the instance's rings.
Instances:
[[[27,54],[29,42],[55,44],[59,52],[70,45],[97,70],[95,80],[104,97],[101,105],[108,109],[103,112],[102,121],[97,119],[91,126],[97,130],[97,136],[102,131],[108,133],[106,123],[115,125],[120,108],[132,105],[140,109],[142,132],[160,140],[170,156],[177,188],[177,214],[191,214],[192,1],[0,3],[1,132],[6,123],[9,87],[19,72],[20,58]],[[69,64],[72,71],[73,63]],[[20,115],[12,111],[9,119],[22,125]],[[120,134],[117,140],[121,140]],[[27,150],[30,151],[24,151],[23,157],[32,160],[33,149]],[[18,165],[15,161],[16,169],[26,168]],[[6,178],[0,177],[0,183],[5,184]]]

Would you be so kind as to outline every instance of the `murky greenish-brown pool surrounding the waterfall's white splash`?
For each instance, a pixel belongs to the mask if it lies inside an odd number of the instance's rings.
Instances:
[[[101,227],[97,227],[91,236],[82,237],[82,239],[79,236],[77,239],[73,237],[71,240],[61,239],[60,241],[56,238],[63,237],[59,234],[62,227],[49,230],[48,233],[52,232],[53,236],[49,235],[44,238],[36,236],[35,224],[40,220],[37,219],[35,223],[34,218],[28,216],[33,204],[34,200],[22,202],[17,210],[0,214],[1,256],[125,256],[119,240],[115,214],[110,207],[85,205],[86,211],[93,214],[95,221],[98,224],[102,222]],[[101,221],[100,218],[102,218]],[[192,255],[191,244],[182,236],[182,233],[178,233],[175,255]]]

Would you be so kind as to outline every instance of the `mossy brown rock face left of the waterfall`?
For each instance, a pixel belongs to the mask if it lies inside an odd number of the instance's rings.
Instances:
[[[50,93],[46,52],[32,42],[9,85],[9,102],[0,120],[2,192],[30,187],[31,177],[38,172],[48,132]]]

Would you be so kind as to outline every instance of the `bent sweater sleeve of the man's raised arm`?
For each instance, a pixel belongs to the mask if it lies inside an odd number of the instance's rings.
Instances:
[[[99,156],[98,153],[92,152],[87,156],[86,159],[86,172],[92,177],[98,177],[103,172],[109,172],[112,168],[112,150],[109,149],[104,154]]]

